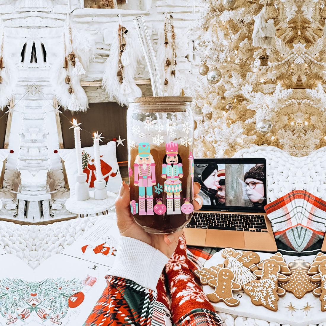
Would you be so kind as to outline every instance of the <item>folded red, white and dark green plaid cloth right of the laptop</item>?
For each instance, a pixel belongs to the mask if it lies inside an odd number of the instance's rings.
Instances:
[[[298,253],[322,239],[326,201],[305,190],[294,190],[265,206],[275,239]]]

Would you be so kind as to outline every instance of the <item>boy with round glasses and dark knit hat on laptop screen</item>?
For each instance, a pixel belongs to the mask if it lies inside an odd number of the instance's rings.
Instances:
[[[252,206],[263,207],[266,205],[264,188],[264,165],[256,164],[244,174],[245,192]]]

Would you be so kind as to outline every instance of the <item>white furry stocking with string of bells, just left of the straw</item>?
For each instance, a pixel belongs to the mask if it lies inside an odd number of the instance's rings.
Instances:
[[[120,22],[111,44],[110,56],[105,62],[102,81],[110,101],[123,106],[129,104],[129,97],[141,96],[141,89],[134,80],[140,58],[137,34]]]

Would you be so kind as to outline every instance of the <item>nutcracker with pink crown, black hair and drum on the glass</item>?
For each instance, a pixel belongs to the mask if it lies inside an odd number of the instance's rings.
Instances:
[[[182,159],[178,154],[178,143],[169,142],[165,145],[165,156],[162,164],[164,192],[166,192],[167,214],[181,214],[181,181],[183,177]],[[173,211],[174,201],[174,211]]]

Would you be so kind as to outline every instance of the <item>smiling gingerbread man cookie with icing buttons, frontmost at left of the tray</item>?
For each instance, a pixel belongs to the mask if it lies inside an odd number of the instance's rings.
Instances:
[[[221,268],[215,279],[208,281],[208,284],[215,288],[213,293],[208,293],[207,298],[213,303],[220,301],[226,305],[233,307],[237,306],[240,301],[233,297],[233,291],[241,290],[241,285],[234,282],[234,274],[228,268]]]

